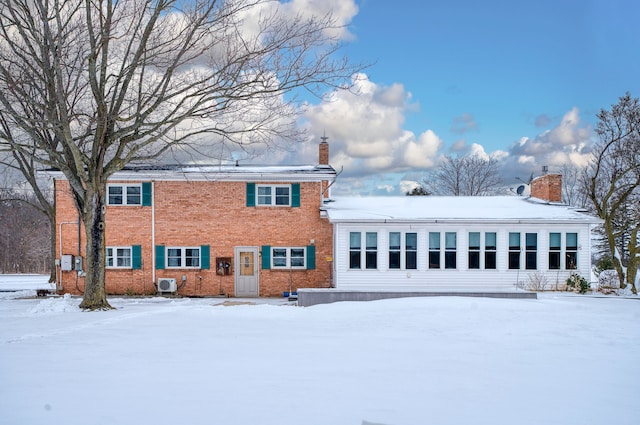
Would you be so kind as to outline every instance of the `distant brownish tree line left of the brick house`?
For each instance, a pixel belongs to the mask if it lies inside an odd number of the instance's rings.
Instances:
[[[0,189],[0,273],[51,271],[49,218],[32,195]]]

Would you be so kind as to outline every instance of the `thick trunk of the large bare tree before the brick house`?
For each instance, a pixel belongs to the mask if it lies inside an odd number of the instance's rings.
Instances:
[[[87,191],[87,203],[82,214],[85,234],[87,237],[87,250],[85,261],[85,289],[84,298],[80,308],[84,310],[109,310],[112,309],[107,301],[105,291],[105,187]]]

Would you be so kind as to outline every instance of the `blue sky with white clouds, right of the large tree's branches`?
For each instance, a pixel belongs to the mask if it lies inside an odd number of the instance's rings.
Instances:
[[[596,113],[640,96],[635,0],[293,3],[333,6],[350,33],[344,53],[371,63],[359,96],[333,93],[306,112],[312,141],[326,132],[344,169],[338,193],[401,194],[443,155],[469,152],[498,159],[507,184],[584,165]]]

